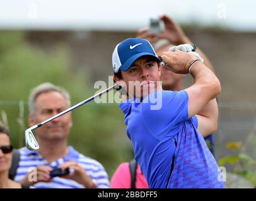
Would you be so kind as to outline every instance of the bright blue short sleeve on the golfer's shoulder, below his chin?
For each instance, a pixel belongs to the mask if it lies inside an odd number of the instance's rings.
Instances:
[[[153,104],[143,104],[144,121],[153,133],[160,133],[164,129],[175,128],[181,122],[189,120],[188,101],[189,95],[185,90],[181,91],[158,91],[154,95],[157,97],[158,107]]]

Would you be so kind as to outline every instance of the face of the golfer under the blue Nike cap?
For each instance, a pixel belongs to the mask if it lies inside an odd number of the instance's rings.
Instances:
[[[160,75],[158,63],[152,57],[141,57],[127,71],[122,71],[128,94],[137,98],[160,89]]]

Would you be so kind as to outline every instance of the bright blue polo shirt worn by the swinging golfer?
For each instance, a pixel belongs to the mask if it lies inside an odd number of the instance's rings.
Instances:
[[[185,90],[160,90],[142,102],[129,99],[120,104],[127,136],[150,188],[224,188],[218,180],[221,171],[197,130],[197,117],[189,118],[188,100]],[[153,107],[156,104],[161,107]]]

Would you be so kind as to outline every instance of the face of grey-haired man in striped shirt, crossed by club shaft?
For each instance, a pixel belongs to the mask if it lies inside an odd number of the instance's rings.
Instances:
[[[66,110],[67,100],[59,92],[51,91],[38,95],[35,101],[35,116],[30,117],[30,126],[45,121]],[[72,126],[71,112],[58,117],[37,129],[38,139],[60,140],[67,138]]]

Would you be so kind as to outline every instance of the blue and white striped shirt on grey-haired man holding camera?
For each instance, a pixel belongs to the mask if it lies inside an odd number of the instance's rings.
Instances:
[[[16,171],[15,181],[19,182],[25,175],[32,170],[33,167],[45,165],[52,168],[59,167],[65,161],[75,161],[80,166],[83,166],[84,170],[89,177],[95,180],[98,188],[109,188],[109,180],[105,168],[96,160],[86,157],[81,153],[78,153],[72,146],[68,146],[68,153],[63,158],[48,163],[38,151],[28,151],[26,148],[21,148],[20,162]],[[74,180],[67,178],[54,177],[51,182],[38,182],[33,186],[35,188],[84,188]]]

